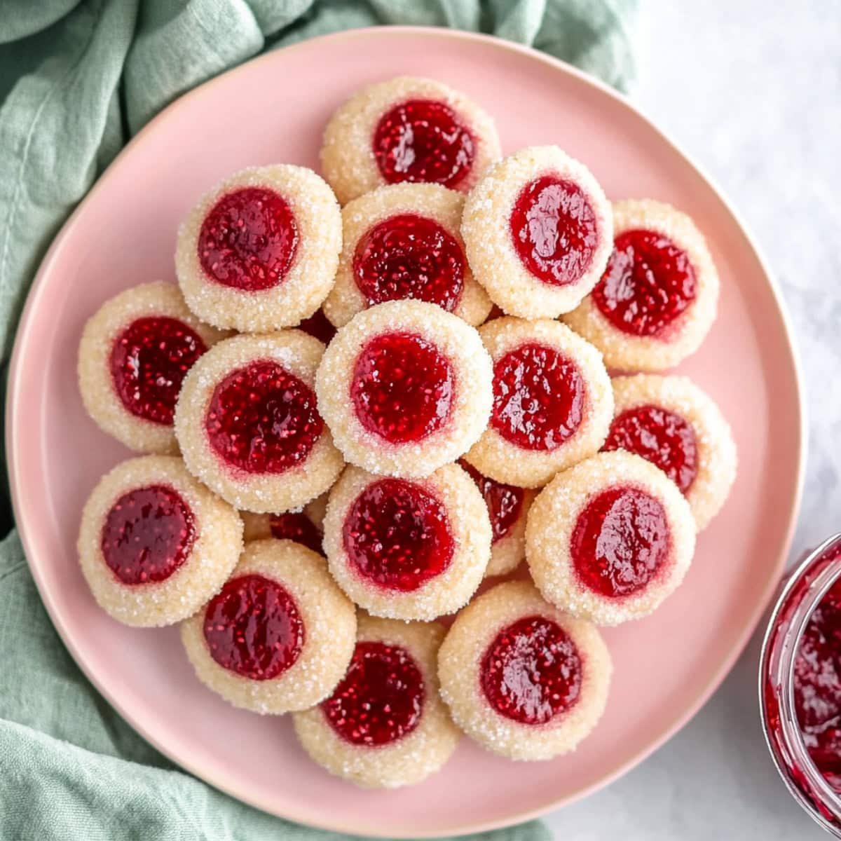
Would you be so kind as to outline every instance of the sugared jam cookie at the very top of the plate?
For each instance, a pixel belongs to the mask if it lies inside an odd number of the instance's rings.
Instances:
[[[336,110],[321,170],[346,204],[400,182],[469,190],[499,156],[494,121],[476,103],[441,82],[402,76],[363,87]]]

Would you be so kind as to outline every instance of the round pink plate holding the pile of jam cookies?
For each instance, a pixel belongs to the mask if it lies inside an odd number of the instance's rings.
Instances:
[[[442,773],[358,791],[298,747],[288,720],[235,711],[193,677],[177,632],[138,631],[94,604],[75,553],[82,500],[128,456],[82,410],[82,325],[120,289],[174,279],[179,220],[249,164],[318,166],[320,133],[357,87],[398,74],[462,89],[496,118],[505,152],[557,143],[611,197],[690,213],[722,277],[721,315],[681,370],[721,405],[739,447],[725,510],[683,587],[654,615],[606,633],[606,715],[570,757],[511,764],[465,739]],[[500,827],[584,796],[632,768],[720,683],[780,575],[801,489],[801,396],[780,301],[724,198],[627,101],[579,71],[500,40],[442,29],[363,29],[309,40],[226,73],[140,132],[67,222],[24,313],[8,390],[14,507],[47,610],[77,663],[140,733],[241,800],[349,833],[435,836]]]

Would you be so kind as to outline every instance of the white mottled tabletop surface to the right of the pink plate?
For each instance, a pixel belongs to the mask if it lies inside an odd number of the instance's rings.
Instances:
[[[841,3],[653,3],[634,99],[720,184],[795,326],[809,417],[792,556],[841,531]],[[773,512],[770,512],[773,516]],[[754,640],[715,696],[630,774],[547,819],[574,841],[820,841],[759,728]]]

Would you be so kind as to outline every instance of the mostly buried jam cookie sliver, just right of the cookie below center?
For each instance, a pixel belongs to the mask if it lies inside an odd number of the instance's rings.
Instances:
[[[535,492],[489,479],[463,458],[458,463],[479,488],[488,509],[492,538],[484,576],[507,575],[526,558],[526,517]]]

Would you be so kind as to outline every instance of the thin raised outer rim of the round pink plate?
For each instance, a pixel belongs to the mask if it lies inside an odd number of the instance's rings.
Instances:
[[[30,524],[28,517],[25,515],[25,512],[23,512],[20,508],[20,488],[21,485],[24,484],[24,480],[22,479],[19,473],[18,466],[16,463],[16,445],[19,437],[18,430],[19,428],[23,427],[22,423],[19,423],[15,420],[14,409],[14,406],[17,403],[15,397],[17,394],[19,394],[20,389],[23,387],[23,383],[21,382],[19,375],[19,368],[21,366],[22,357],[22,346],[24,346],[24,344],[26,343],[25,338],[29,333],[29,330],[32,328],[32,322],[34,321],[34,313],[38,309],[38,301],[40,299],[40,294],[43,291],[44,279],[50,273],[52,263],[55,262],[56,256],[61,251],[61,246],[63,245],[64,241],[66,241],[70,237],[71,232],[77,223],[77,218],[82,213],[82,210],[85,208],[88,200],[98,190],[103,188],[103,185],[108,181],[108,177],[112,175],[114,167],[118,164],[121,158],[130,150],[132,150],[135,144],[143,142],[147,132],[153,130],[164,120],[171,117],[174,111],[177,108],[181,107],[186,100],[197,95],[199,91],[203,91],[206,87],[209,87],[210,85],[214,85],[216,82],[219,82],[222,78],[227,78],[230,77],[230,75],[232,74],[241,73],[245,71],[248,66],[251,66],[252,64],[258,61],[272,61],[272,59],[275,56],[278,56],[282,53],[288,53],[288,51],[290,50],[298,50],[303,47],[311,48],[313,43],[329,45],[330,42],[340,39],[357,39],[365,37],[381,38],[383,36],[423,36],[431,39],[479,41],[484,42],[488,45],[492,45],[496,49],[508,52],[515,52],[522,56],[526,56],[531,60],[538,61],[546,65],[547,68],[553,71],[561,72],[567,76],[574,77],[578,82],[583,83],[587,87],[595,88],[595,90],[599,91],[600,93],[606,94],[612,99],[616,100],[616,103],[620,104],[622,108],[631,111],[632,115],[636,119],[642,120],[642,122],[646,124],[649,130],[653,130],[654,134],[659,136],[659,140],[661,140],[665,145],[668,145],[671,151],[673,151],[675,155],[679,156],[687,167],[689,167],[691,170],[694,170],[696,174],[706,182],[707,186],[711,189],[718,203],[721,205],[722,212],[727,214],[727,216],[732,221],[733,225],[736,228],[738,228],[740,233],[743,235],[747,246],[750,248],[751,251],[753,251],[756,262],[758,263],[759,268],[764,276],[765,282],[767,283],[767,286],[770,289],[771,297],[775,304],[776,315],[780,320],[780,325],[782,327],[781,337],[785,342],[785,356],[791,368],[791,375],[797,397],[796,479],[794,483],[794,488],[792,489],[790,505],[788,506],[788,521],[785,524],[785,532],[782,543],[780,545],[780,551],[777,555],[777,558],[775,558],[775,563],[773,567],[770,569],[770,575],[767,577],[764,584],[764,591],[761,593],[759,600],[757,600],[756,602],[756,607],[754,608],[753,614],[749,616],[748,622],[743,627],[742,632],[738,635],[735,643],[733,644],[733,647],[727,653],[727,656],[722,659],[721,664],[718,666],[715,673],[712,674],[711,679],[701,689],[701,691],[698,693],[696,698],[690,703],[690,705],[685,706],[684,711],[682,711],[679,716],[674,717],[674,719],[662,729],[658,738],[654,739],[651,743],[646,745],[645,748],[638,751],[629,759],[616,765],[615,768],[613,768],[606,775],[603,775],[600,778],[600,780],[596,781],[595,783],[592,783],[590,785],[583,785],[579,789],[569,792],[564,796],[558,797],[552,801],[547,801],[540,807],[528,809],[523,812],[513,812],[507,815],[506,817],[490,819],[488,821],[465,822],[454,824],[452,826],[447,826],[445,828],[436,828],[431,830],[421,830],[415,832],[407,832],[399,827],[379,828],[376,825],[366,826],[362,828],[358,826],[354,827],[351,825],[347,825],[346,823],[343,823],[341,821],[330,819],[315,819],[314,816],[310,813],[307,813],[306,815],[302,816],[294,812],[286,811],[283,814],[280,814],[278,813],[278,811],[273,809],[271,805],[266,801],[261,801],[258,798],[250,796],[249,792],[247,791],[241,791],[241,789],[236,785],[234,780],[218,779],[214,777],[214,775],[209,775],[206,771],[202,770],[200,767],[198,767],[198,764],[193,764],[189,761],[185,762],[181,758],[175,758],[169,752],[167,746],[160,743],[156,739],[154,734],[148,733],[145,730],[145,727],[140,727],[137,723],[135,723],[130,714],[127,711],[124,711],[122,705],[117,701],[114,701],[110,694],[103,688],[102,685],[100,685],[96,674],[93,674],[93,670],[88,668],[82,652],[79,649],[77,649],[77,647],[71,639],[71,636],[66,632],[66,627],[64,627],[63,625],[59,611],[57,611],[56,605],[54,604],[51,598],[50,591],[46,588],[46,585],[41,577],[39,564],[34,563],[33,558],[35,558],[37,553],[34,553],[33,551],[35,540],[32,536],[34,532],[37,531],[37,524]],[[736,660],[746,648],[750,637],[753,635],[756,627],[758,627],[759,621],[764,615],[764,611],[767,609],[770,603],[772,595],[774,595],[775,593],[775,590],[779,583],[780,574],[782,573],[785,567],[785,560],[791,551],[791,542],[794,537],[796,522],[801,509],[807,454],[808,426],[806,404],[803,395],[804,391],[801,364],[799,356],[796,352],[796,341],[794,338],[794,332],[791,327],[791,317],[787,309],[785,308],[785,303],[780,294],[780,289],[777,286],[773,273],[770,271],[769,264],[766,258],[764,257],[764,252],[759,247],[759,244],[755,240],[754,235],[752,235],[752,233],[748,229],[747,225],[745,225],[742,216],[738,214],[736,209],[733,208],[733,205],[729,202],[729,200],[723,193],[722,188],[719,187],[717,181],[710,177],[710,175],[706,172],[706,170],[703,167],[699,166],[696,163],[696,161],[681,148],[680,145],[678,145],[667,133],[661,130],[659,126],[653,122],[652,119],[648,118],[648,116],[644,114],[644,112],[640,110],[640,108],[637,108],[637,106],[634,105],[629,98],[627,98],[624,94],[616,91],[615,88],[610,87],[605,82],[601,82],[599,79],[590,76],[589,74],[579,70],[579,68],[572,66],[565,61],[561,61],[560,59],[557,59],[553,56],[549,56],[546,53],[543,53],[539,50],[535,50],[530,46],[517,44],[513,41],[505,40],[495,35],[468,32],[461,29],[447,29],[434,26],[369,26],[357,29],[346,29],[330,34],[318,35],[314,38],[297,41],[294,44],[280,47],[275,50],[268,50],[267,52],[262,53],[259,56],[255,56],[249,59],[248,61],[244,61],[242,64],[235,66],[228,71],[220,73],[218,76],[209,79],[207,82],[203,82],[197,87],[193,87],[190,91],[183,93],[180,97],[173,100],[172,103],[169,103],[166,108],[163,108],[159,114],[156,114],[155,117],[153,117],[148,123],[146,123],[143,126],[143,128],[140,129],[140,131],[138,131],[138,133],[133,138],[131,138],[131,140],[126,145],[124,145],[123,149],[120,150],[119,153],[114,157],[114,160],[108,164],[108,167],[106,167],[106,169],[98,177],[96,182],[93,183],[92,187],[88,190],[88,192],[79,202],[79,204],[77,204],[76,208],[73,209],[71,215],[67,218],[64,224],[61,225],[61,229],[54,236],[53,240],[50,243],[50,247],[46,251],[42,261],[40,262],[38,271],[35,273],[33,282],[26,296],[24,308],[20,315],[18,328],[15,333],[13,351],[10,357],[8,369],[8,387],[5,405],[5,443],[8,463],[8,480],[11,492],[14,521],[18,529],[21,543],[24,547],[24,554],[26,557],[27,564],[29,566],[29,571],[32,574],[35,585],[38,589],[40,599],[44,604],[48,615],[50,616],[50,621],[52,622],[53,627],[56,629],[56,632],[61,637],[61,640],[66,646],[68,653],[70,653],[71,658],[77,664],[79,669],[82,670],[82,674],[84,674],[87,677],[87,680],[90,680],[90,682],[93,684],[93,687],[98,691],[98,693],[101,696],[103,696],[103,698],[106,701],[108,701],[109,706],[112,706],[112,708],[114,708],[114,710],[119,713],[119,716],[122,717],[124,721],[127,722],[130,725],[130,727],[132,727],[133,730],[135,730],[135,733],[138,733],[142,738],[145,739],[146,742],[150,743],[152,747],[156,748],[156,750],[158,750],[161,754],[166,756],[167,759],[170,759],[172,763],[175,764],[178,768],[181,768],[182,770],[187,771],[189,774],[197,777],[199,780],[203,780],[205,783],[212,785],[219,791],[223,791],[225,794],[235,797],[235,799],[246,803],[251,807],[255,807],[263,812],[267,812],[268,814],[272,814],[276,817],[281,817],[288,821],[298,822],[303,824],[304,826],[312,828],[325,829],[337,833],[365,833],[375,838],[442,838],[446,836],[463,835],[466,833],[484,832],[492,829],[510,827],[517,823],[532,820],[536,817],[541,817],[542,815],[547,814],[547,812],[552,812],[553,810],[573,803],[574,801],[579,801],[585,796],[588,796],[594,793],[595,791],[599,791],[600,789],[606,787],[606,785],[610,785],[611,782],[626,774],[628,771],[635,768],[638,764],[642,763],[644,759],[648,758],[648,756],[653,754],[654,751],[662,747],[664,743],[669,741],[669,739],[672,738],[675,735],[675,733],[678,733],[680,729],[685,727],[685,725],[689,723],[693,717],[696,716],[696,713],[701,709],[701,706],[703,706],[706,703],[706,701],[709,700],[713,692],[717,690],[717,688],[722,684],[722,681],[727,677],[727,674],[730,673],[731,669],[733,669],[733,665],[736,663]]]

